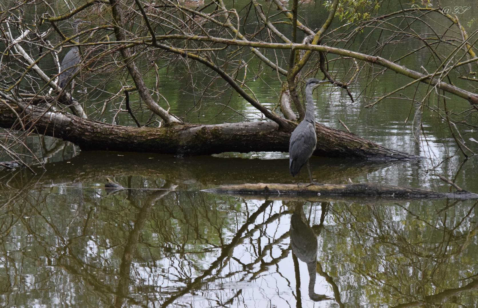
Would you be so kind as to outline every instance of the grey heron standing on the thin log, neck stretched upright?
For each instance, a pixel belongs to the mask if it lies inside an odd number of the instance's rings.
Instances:
[[[315,145],[317,144],[317,135],[315,134],[315,113],[314,113],[314,98],[312,91],[315,87],[332,82],[330,80],[318,80],[311,78],[307,80],[305,86],[305,98],[307,100],[307,110],[305,111],[304,120],[294,129],[289,141],[289,169],[292,176],[299,173],[300,169],[307,163],[309,170],[310,184],[314,185],[312,174],[310,173],[309,158],[314,153]]]

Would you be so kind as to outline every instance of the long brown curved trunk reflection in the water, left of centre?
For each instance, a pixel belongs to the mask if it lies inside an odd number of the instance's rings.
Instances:
[[[148,198],[148,200],[146,200],[145,205],[141,207],[141,210],[138,214],[138,219],[134,222],[133,230],[131,231],[130,236],[128,238],[128,242],[124,247],[123,257],[121,259],[120,265],[120,280],[118,282],[118,290],[116,292],[117,296],[115,298],[113,307],[122,307],[126,298],[129,295],[131,261],[136,248],[136,244],[138,243],[138,238],[144,227],[146,219],[149,217],[152,206],[155,205],[156,202],[163,196],[169,194],[169,192],[171,192],[174,187],[175,185],[169,185],[169,187],[165,187],[169,188],[168,190],[163,190],[152,194]]]

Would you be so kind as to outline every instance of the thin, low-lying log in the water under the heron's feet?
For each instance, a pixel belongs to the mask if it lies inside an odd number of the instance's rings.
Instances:
[[[374,183],[358,184],[242,184],[242,185],[222,185],[216,188],[203,190],[208,193],[219,195],[258,195],[274,196],[283,199],[286,196],[374,196],[386,198],[450,198],[450,199],[476,199],[478,194],[467,191],[455,193],[441,193],[430,190],[424,190],[411,187],[400,187],[391,185],[380,185]]]

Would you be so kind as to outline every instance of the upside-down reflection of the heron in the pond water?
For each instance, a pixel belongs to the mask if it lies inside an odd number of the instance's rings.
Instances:
[[[315,293],[315,278],[317,276],[317,236],[323,229],[323,223],[326,216],[326,205],[322,206],[320,224],[313,227],[309,226],[304,214],[303,202],[297,202],[291,216],[291,247],[294,255],[299,260],[307,264],[309,272],[309,297],[313,301],[331,299],[325,295]]]

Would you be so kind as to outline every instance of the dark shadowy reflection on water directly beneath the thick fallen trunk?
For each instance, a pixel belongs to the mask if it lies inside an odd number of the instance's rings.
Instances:
[[[311,168],[317,181],[330,184],[347,183],[348,178],[400,162],[370,162],[351,159],[313,157]],[[27,170],[0,171],[0,183],[25,183],[41,176],[39,182],[54,184],[90,182],[103,183],[111,177],[126,187],[127,176],[140,175],[182,184],[200,183],[203,188],[223,184],[296,183],[289,173],[287,159],[242,159],[195,156],[178,158],[173,155],[80,152],[69,160],[45,164],[46,171],[37,176]],[[38,168],[35,171],[43,171]],[[305,172],[306,173],[306,172]],[[304,174],[305,174],[304,173]],[[114,178],[113,178],[114,177]],[[308,177],[307,177],[308,178]],[[12,181],[13,179],[13,181]],[[17,188],[19,188],[17,186]]]

